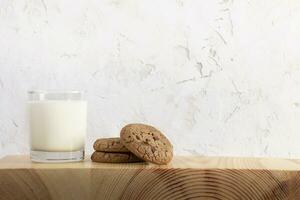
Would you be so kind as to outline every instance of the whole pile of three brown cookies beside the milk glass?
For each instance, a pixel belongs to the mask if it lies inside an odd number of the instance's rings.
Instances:
[[[92,161],[129,163],[148,161],[167,164],[173,157],[173,146],[153,126],[129,124],[122,128],[120,138],[98,139],[94,143]]]

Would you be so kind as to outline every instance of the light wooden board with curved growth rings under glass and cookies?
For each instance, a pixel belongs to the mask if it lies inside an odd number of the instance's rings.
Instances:
[[[300,160],[175,157],[169,165],[0,159],[0,199],[300,199]]]

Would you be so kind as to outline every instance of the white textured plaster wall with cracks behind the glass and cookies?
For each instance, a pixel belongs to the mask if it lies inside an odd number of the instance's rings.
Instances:
[[[297,0],[0,0],[0,156],[29,89],[88,92],[87,150],[129,122],[177,154],[300,158]]]

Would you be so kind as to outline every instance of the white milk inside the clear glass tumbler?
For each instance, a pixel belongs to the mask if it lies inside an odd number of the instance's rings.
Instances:
[[[84,150],[86,101],[30,101],[31,150]]]

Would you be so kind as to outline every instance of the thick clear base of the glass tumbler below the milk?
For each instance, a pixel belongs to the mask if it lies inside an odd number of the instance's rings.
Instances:
[[[84,150],[68,152],[30,151],[30,159],[34,162],[61,163],[84,160]]]

